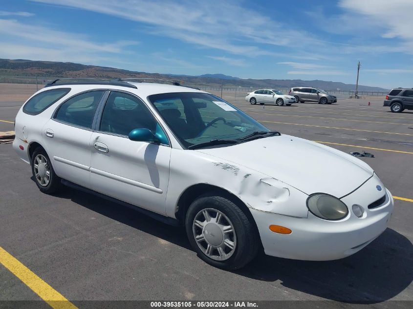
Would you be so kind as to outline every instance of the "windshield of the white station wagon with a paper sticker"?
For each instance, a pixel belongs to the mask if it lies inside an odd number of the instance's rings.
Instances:
[[[207,93],[164,93],[148,97],[179,141],[189,147],[211,140],[238,140],[269,130],[237,107]]]

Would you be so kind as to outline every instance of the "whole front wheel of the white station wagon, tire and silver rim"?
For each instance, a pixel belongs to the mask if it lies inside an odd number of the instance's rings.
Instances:
[[[232,201],[215,194],[196,199],[185,220],[189,242],[206,263],[241,268],[256,255],[257,233],[248,216]]]

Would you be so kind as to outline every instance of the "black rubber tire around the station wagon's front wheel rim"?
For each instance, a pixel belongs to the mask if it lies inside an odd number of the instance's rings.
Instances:
[[[254,223],[251,222],[252,219],[249,219],[249,217],[243,212],[243,210],[235,203],[227,198],[219,196],[218,194],[219,193],[212,193],[201,196],[191,204],[186,214],[186,233],[191,246],[196,251],[198,256],[206,263],[222,269],[241,268],[249,263],[257,254],[260,239],[258,238],[258,233],[256,231]],[[230,220],[230,224],[232,224],[232,226],[234,227],[236,245],[232,255],[226,260],[215,260],[213,258],[210,258],[200,249],[198,243],[195,240],[194,234],[196,232],[196,229],[198,229],[197,232],[201,235],[208,235],[208,232],[206,230],[204,231],[205,227],[202,229],[198,226],[193,227],[196,216],[204,209],[215,209],[220,211]],[[204,222],[206,221],[207,220],[205,220]],[[209,234],[211,235],[211,232]],[[210,235],[209,237],[211,237]],[[215,240],[215,236],[213,234],[212,236]],[[219,237],[219,235],[217,237]],[[223,243],[224,242],[222,241],[221,244]],[[208,246],[206,239],[204,240],[204,244]],[[215,249],[213,248],[212,250]]]

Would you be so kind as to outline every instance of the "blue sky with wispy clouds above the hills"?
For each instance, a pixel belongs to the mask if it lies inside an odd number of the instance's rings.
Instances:
[[[0,58],[413,87],[412,0],[12,0]]]

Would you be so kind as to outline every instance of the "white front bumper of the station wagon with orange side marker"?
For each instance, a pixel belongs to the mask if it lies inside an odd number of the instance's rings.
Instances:
[[[378,194],[374,191],[366,194],[366,188],[370,190],[377,180],[377,177],[371,178],[342,199],[349,212],[340,221],[322,220],[310,212],[307,218],[296,218],[251,209],[265,253],[288,259],[327,261],[347,257],[366,247],[387,228],[393,210],[393,198],[387,189],[385,202],[374,209],[368,208],[378,195],[384,194],[377,190]],[[352,213],[353,204],[365,209],[363,217],[358,218]],[[269,229],[270,225],[288,227],[292,233],[274,233]]]

